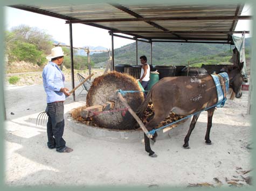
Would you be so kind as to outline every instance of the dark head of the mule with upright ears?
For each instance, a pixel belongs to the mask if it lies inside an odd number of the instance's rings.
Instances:
[[[238,66],[233,65],[231,68],[229,68],[229,71],[227,71],[227,74],[229,74],[230,88],[232,88],[236,94],[236,98],[240,98],[243,94],[241,91],[241,85],[244,81],[244,77],[241,74],[243,67],[244,62],[241,62]]]

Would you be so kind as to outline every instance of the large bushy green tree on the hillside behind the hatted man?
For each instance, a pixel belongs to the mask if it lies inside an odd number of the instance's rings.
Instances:
[[[5,32],[5,54],[9,63],[26,61],[41,65],[51,53],[51,35],[39,28],[20,25]]]

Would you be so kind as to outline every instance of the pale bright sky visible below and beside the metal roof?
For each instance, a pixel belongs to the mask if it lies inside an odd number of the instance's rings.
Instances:
[[[10,7],[5,7],[5,28],[10,30],[13,26],[21,24],[31,27],[38,27],[46,33],[51,34],[54,40],[64,42],[67,45],[69,42],[69,27],[65,24],[65,20],[54,17],[44,16],[42,14],[32,13]],[[251,15],[251,6],[245,5],[241,15]],[[73,46],[103,46],[111,48],[111,36],[107,30],[92,26],[73,24]],[[252,28],[249,20],[239,20],[236,31],[251,31]],[[241,36],[240,34],[238,36]],[[246,34],[246,37],[251,35]],[[114,37],[114,48],[127,45],[134,42],[133,40]]]

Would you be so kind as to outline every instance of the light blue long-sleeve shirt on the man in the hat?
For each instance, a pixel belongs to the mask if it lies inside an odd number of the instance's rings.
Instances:
[[[49,62],[42,73],[44,90],[47,94],[46,101],[51,103],[54,101],[64,101],[66,96],[60,92],[61,87],[64,87],[65,77],[58,65],[54,62]]]

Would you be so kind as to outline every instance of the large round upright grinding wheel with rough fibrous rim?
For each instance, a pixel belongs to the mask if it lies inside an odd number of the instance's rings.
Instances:
[[[110,72],[94,79],[86,97],[87,107],[105,104],[107,101],[114,101],[115,107],[112,110],[124,109],[125,106],[116,96],[116,90],[141,90],[137,80],[127,74]],[[128,105],[136,112],[136,109],[144,101],[143,93],[127,93],[123,95]],[[124,116],[123,116],[124,115]],[[103,128],[108,129],[135,129],[134,117],[126,111],[102,113],[93,116],[94,122]]]

